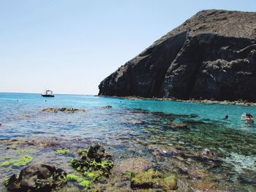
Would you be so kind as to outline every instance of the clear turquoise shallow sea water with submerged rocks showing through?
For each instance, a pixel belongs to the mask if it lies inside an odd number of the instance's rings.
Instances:
[[[112,108],[102,108],[107,105]],[[41,112],[47,107],[86,112]],[[180,191],[255,191],[256,126],[241,122],[243,112],[256,115],[255,107],[235,105],[0,93],[0,163],[4,155],[23,155],[7,149],[14,145],[36,150],[27,153],[34,157],[32,162],[56,164],[72,172],[69,161],[75,151],[99,140],[113,153],[116,164],[142,157],[162,172],[176,172]],[[222,120],[225,114],[229,120]],[[170,121],[187,123],[188,128],[171,128]],[[56,155],[57,147],[69,148],[70,154]],[[206,148],[210,157],[202,155]],[[0,180],[22,167],[0,167]],[[2,182],[0,190],[5,190]]]

